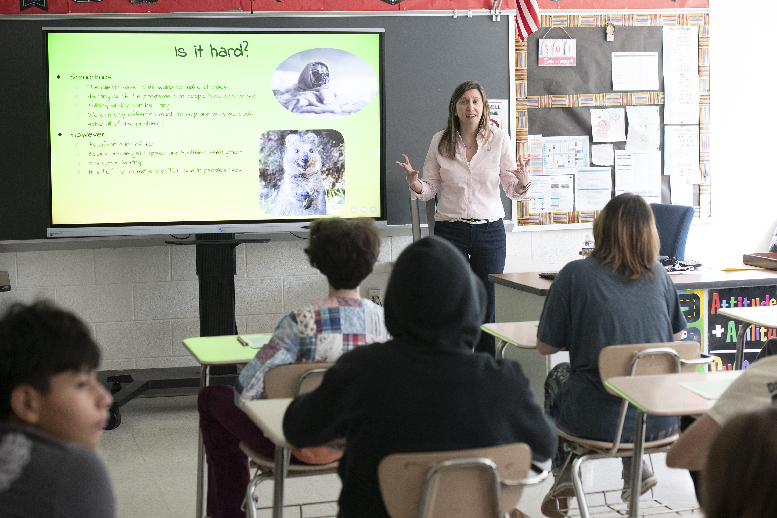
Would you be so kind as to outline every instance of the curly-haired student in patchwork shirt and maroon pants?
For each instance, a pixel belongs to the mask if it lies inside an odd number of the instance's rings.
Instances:
[[[262,398],[267,370],[287,363],[334,361],[357,346],[390,338],[383,308],[359,295],[359,284],[371,273],[380,247],[380,233],[369,218],[313,221],[305,253],[310,265],[326,275],[329,298],[282,318],[270,342],[240,373],[234,392],[219,385],[200,390],[210,518],[245,516],[240,505],[250,477],[240,441],[260,454],[274,456],[275,445],[237,406]],[[328,464],[340,456],[328,448],[292,450],[292,462],[305,464]]]

